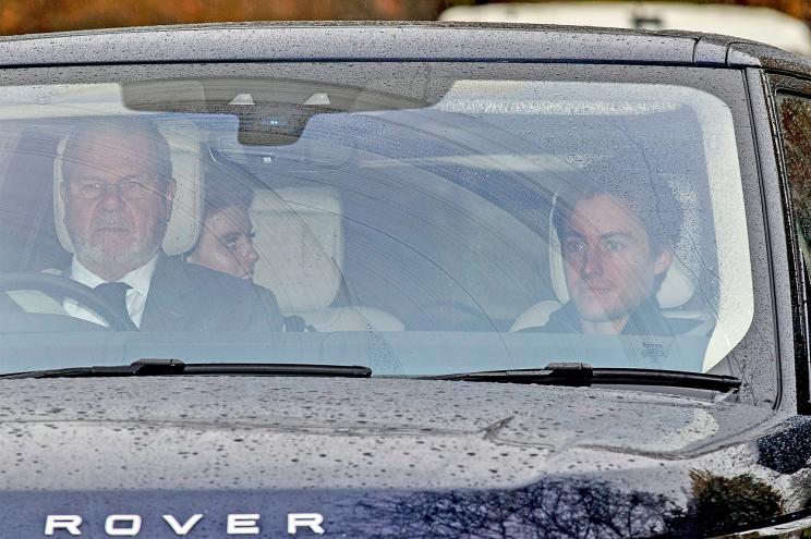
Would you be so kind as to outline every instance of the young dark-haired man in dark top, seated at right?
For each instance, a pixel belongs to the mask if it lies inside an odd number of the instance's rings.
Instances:
[[[654,192],[646,177],[597,183],[558,200],[553,223],[570,299],[534,330],[666,335],[698,326],[665,318],[656,301],[682,217],[669,187]]]

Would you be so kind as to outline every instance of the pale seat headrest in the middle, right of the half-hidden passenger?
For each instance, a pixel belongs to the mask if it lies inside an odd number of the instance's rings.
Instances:
[[[258,189],[251,205],[254,282],[285,315],[328,307],[341,287],[341,203],[328,187]]]

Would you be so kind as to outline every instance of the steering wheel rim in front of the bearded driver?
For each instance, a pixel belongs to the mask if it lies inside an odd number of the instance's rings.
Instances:
[[[0,293],[14,290],[37,290],[52,296],[70,297],[100,316],[111,331],[137,331],[137,327],[129,317],[124,318],[107,305],[93,289],[72,279],[48,273],[0,274]]]

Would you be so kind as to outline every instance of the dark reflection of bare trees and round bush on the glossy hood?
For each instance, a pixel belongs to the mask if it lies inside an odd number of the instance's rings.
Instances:
[[[691,471],[687,511],[663,494],[601,480],[541,481],[515,490],[367,495],[349,536],[410,538],[707,537],[785,513],[780,494],[751,475]]]

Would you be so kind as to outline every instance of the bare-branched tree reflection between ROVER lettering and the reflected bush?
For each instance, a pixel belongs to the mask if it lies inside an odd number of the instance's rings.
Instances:
[[[366,499],[356,512],[366,526],[379,526],[371,530],[375,537],[412,538],[649,537],[664,534],[668,522],[681,517],[667,497],[588,480]]]

